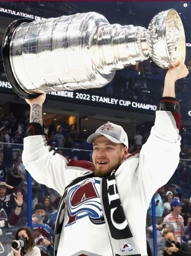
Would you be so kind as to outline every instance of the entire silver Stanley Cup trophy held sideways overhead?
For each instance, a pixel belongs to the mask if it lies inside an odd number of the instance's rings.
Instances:
[[[115,70],[149,56],[161,68],[184,62],[185,35],[174,9],[153,17],[148,29],[111,25],[95,12],[21,19],[9,25],[2,55],[15,92],[35,98],[42,92],[100,88]]]

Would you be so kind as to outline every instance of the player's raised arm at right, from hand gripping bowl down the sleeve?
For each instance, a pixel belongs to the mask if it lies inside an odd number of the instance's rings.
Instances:
[[[163,97],[157,105],[155,125],[140,152],[140,182],[149,200],[159,187],[168,182],[179,163],[181,114],[175,98],[175,81],[188,73],[182,62],[167,71]]]

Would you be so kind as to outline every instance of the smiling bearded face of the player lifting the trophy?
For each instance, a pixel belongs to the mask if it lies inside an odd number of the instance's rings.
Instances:
[[[110,175],[127,158],[127,154],[126,146],[113,143],[104,136],[98,136],[93,142],[92,154],[95,176]]]

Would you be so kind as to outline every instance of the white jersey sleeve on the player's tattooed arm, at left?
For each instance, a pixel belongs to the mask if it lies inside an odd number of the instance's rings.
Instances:
[[[68,167],[68,160],[47,145],[44,135],[24,138],[23,164],[34,180],[63,195],[70,181],[87,172],[83,168]]]

